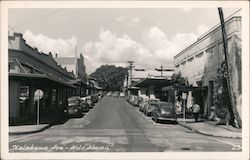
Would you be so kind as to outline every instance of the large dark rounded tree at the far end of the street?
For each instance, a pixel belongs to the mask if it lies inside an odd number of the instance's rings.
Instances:
[[[115,65],[102,65],[90,77],[96,78],[101,87],[108,91],[120,91],[128,70]]]

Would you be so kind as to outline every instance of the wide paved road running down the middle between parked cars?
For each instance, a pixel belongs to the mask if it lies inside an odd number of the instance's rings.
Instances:
[[[238,139],[207,137],[178,124],[156,124],[123,98],[104,97],[82,118],[11,136],[11,152],[237,151]]]

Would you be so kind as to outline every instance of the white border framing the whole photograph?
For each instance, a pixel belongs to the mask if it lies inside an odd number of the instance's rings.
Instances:
[[[79,7],[80,6],[80,7]],[[9,8],[242,8],[242,152],[9,153]],[[4,1],[1,2],[1,159],[249,159],[249,2],[247,1]]]

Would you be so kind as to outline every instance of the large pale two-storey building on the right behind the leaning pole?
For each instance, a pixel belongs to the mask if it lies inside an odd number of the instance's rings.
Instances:
[[[225,21],[228,40],[229,70],[232,76],[233,97],[241,117],[241,17]],[[176,72],[188,78],[192,86],[207,87],[203,95],[204,115],[208,116],[217,92],[217,69],[224,61],[221,26],[217,25],[174,57]]]

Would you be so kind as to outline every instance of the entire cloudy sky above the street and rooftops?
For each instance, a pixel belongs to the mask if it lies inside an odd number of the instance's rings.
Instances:
[[[223,8],[228,17],[238,8]],[[44,53],[85,58],[87,74],[100,65],[173,68],[173,57],[219,24],[217,8],[9,9],[9,30]]]

